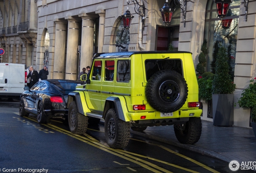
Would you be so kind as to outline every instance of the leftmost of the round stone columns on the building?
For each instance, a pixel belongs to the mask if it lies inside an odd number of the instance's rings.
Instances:
[[[55,26],[55,48],[54,48],[54,79],[64,79],[65,65],[65,42],[66,21],[54,19]]]

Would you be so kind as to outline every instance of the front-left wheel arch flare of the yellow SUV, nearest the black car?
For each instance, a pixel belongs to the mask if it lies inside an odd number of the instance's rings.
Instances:
[[[82,100],[84,101],[84,103],[82,103]],[[85,95],[83,92],[80,92],[80,91],[70,92],[68,94],[67,108],[69,108],[69,105],[72,101],[76,102],[78,113],[85,115],[85,112],[91,112],[87,107],[87,104],[85,102]]]

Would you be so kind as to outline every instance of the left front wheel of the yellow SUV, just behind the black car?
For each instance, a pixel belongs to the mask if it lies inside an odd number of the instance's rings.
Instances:
[[[84,134],[88,126],[88,117],[78,113],[76,102],[72,101],[68,108],[68,126],[74,134]]]

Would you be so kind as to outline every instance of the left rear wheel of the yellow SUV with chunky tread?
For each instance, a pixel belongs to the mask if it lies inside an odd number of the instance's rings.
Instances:
[[[109,109],[105,117],[105,137],[109,147],[122,149],[128,145],[130,123],[118,119],[115,109]]]

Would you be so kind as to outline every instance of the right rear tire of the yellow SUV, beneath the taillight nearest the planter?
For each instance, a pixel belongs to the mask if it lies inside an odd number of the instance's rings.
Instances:
[[[201,118],[190,117],[184,126],[174,125],[174,133],[180,143],[194,144],[200,139],[202,132]]]

